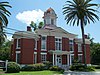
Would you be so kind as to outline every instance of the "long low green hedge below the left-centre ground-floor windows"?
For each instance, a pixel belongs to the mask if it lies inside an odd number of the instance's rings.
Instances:
[[[44,70],[44,66],[45,65],[43,63],[26,65],[21,68],[21,71],[42,71]]]

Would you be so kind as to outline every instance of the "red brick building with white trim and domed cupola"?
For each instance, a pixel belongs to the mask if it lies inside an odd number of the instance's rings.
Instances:
[[[50,61],[53,65],[71,65],[74,59],[84,61],[82,39],[57,27],[57,15],[52,8],[44,12],[44,27],[31,32],[15,32],[11,46],[11,58],[19,64],[35,64]],[[90,41],[85,36],[86,63],[90,64]]]

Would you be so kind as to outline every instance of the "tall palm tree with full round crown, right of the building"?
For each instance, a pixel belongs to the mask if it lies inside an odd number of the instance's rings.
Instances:
[[[95,14],[97,10],[93,8],[98,4],[92,4],[92,0],[72,0],[66,1],[66,5],[63,7],[63,14],[67,24],[80,25],[82,32],[82,42],[84,49],[84,64],[86,65],[86,49],[85,49],[85,37],[84,37],[84,26],[90,21],[96,22],[95,18],[99,20],[99,17]]]

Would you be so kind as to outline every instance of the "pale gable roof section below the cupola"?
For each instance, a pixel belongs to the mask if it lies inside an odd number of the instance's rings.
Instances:
[[[35,31],[38,35],[47,35],[55,37],[66,37],[66,38],[76,38],[76,34],[69,33],[62,29],[61,27],[56,27],[54,29],[37,29]]]

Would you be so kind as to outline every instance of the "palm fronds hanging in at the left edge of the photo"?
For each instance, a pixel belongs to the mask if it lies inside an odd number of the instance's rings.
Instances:
[[[2,45],[3,41],[5,41],[4,27],[7,27],[8,25],[7,16],[11,15],[6,7],[11,8],[9,2],[0,2],[0,46]]]

